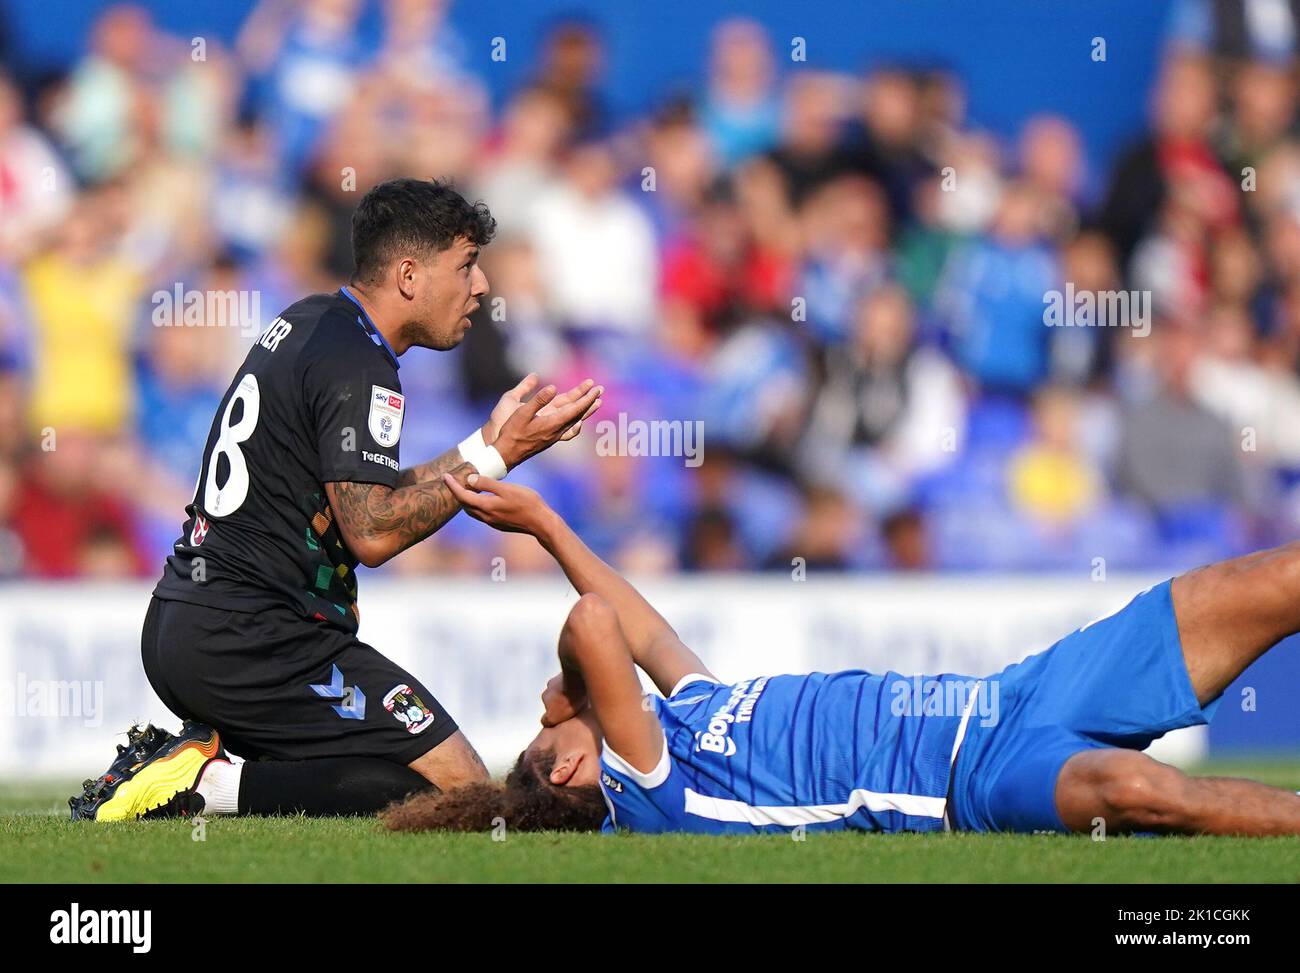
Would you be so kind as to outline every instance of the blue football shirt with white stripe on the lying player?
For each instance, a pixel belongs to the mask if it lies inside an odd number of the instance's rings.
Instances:
[[[604,745],[604,830],[942,830],[979,686],[864,671],[732,686],[688,675],[651,697],[664,732],[658,766],[641,773]]]

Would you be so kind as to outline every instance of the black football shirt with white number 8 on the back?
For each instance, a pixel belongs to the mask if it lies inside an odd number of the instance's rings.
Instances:
[[[346,287],[291,306],[221,399],[153,593],[237,611],[289,605],[355,632],[358,562],[325,484],[395,486],[404,412],[396,356]]]

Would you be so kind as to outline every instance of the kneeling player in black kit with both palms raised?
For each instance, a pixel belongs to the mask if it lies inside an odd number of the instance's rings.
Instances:
[[[354,568],[460,509],[443,473],[500,476],[599,405],[590,380],[525,403],[529,376],[459,446],[399,466],[398,358],[460,343],[488,293],[477,259],[494,229],[443,183],[376,186],[352,217],[351,285],[298,302],[254,345],[144,619],[144,671],[185,726],[133,727],[70,800],[74,818],[356,814],[488,779],[433,693],[358,640]]]

